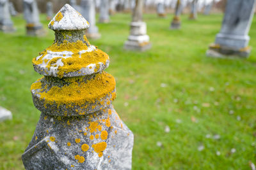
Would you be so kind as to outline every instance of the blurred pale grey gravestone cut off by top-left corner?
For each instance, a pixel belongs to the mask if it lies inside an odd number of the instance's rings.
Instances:
[[[15,31],[11,20],[8,2],[8,0],[0,0],[0,31],[3,32]]]

